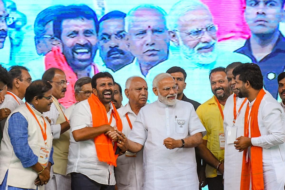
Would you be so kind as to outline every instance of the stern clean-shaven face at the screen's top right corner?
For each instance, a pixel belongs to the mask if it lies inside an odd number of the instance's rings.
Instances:
[[[281,0],[247,0],[245,19],[253,34],[268,34],[278,30],[284,18]]]

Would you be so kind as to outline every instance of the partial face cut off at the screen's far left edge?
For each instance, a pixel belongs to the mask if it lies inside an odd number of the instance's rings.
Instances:
[[[8,13],[4,7],[3,1],[0,0],[0,49],[3,48],[5,39],[8,35],[8,26],[6,23]]]

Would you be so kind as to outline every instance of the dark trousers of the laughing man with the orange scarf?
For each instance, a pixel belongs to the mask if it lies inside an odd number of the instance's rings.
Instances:
[[[114,190],[115,185],[104,185],[93,181],[82,173],[72,172],[71,190]]]

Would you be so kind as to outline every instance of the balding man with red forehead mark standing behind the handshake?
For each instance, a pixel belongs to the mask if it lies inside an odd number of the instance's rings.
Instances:
[[[129,102],[118,109],[124,126],[122,132],[126,136],[131,132],[140,109],[146,105],[147,89],[146,81],[142,77],[132,76],[126,81],[125,95]],[[118,189],[143,189],[143,149],[138,153],[127,151],[125,155],[118,157],[115,178]]]

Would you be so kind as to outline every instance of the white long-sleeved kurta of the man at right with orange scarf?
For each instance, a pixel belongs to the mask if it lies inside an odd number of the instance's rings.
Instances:
[[[254,102],[249,103],[249,111]],[[268,93],[264,95],[258,109],[258,128],[261,136],[251,138],[251,143],[262,147],[264,190],[283,190],[285,113],[280,103]]]

